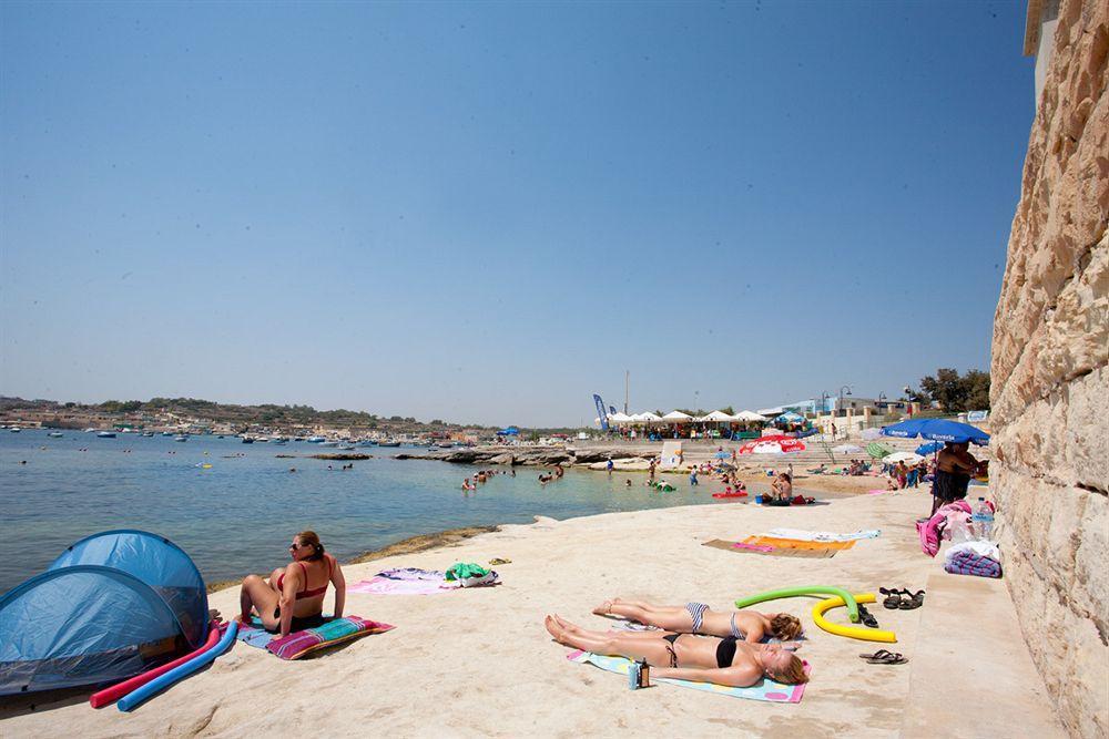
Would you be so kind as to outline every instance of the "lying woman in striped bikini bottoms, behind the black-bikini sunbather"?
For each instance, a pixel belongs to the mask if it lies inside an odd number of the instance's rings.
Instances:
[[[598,616],[618,616],[679,634],[735,637],[757,644],[765,637],[793,642],[801,636],[801,622],[790,614],[757,610],[712,610],[703,603],[655,606],[639,601],[613,598],[593,609]]]

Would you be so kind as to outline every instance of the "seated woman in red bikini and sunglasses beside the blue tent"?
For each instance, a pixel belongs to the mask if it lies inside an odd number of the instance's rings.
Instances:
[[[293,562],[274,569],[269,582],[257,575],[247,575],[243,581],[238,594],[242,623],[250,624],[252,613],[256,613],[267,632],[278,632],[282,636],[318,626],[328,583],[335,586],[335,617],[343,616],[346,604],[343,568],[324,552],[316,533],[302,531],[293,537],[288,552]]]

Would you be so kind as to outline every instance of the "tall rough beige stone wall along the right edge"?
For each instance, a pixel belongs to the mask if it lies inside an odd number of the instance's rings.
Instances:
[[[1109,2],[1062,0],[994,321],[1006,577],[1059,717],[1109,732]]]

